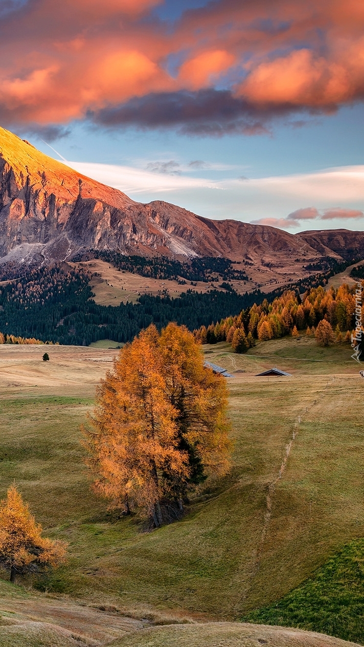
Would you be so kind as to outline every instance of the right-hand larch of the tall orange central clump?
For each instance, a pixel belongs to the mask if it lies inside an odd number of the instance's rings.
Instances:
[[[208,474],[228,466],[226,381],[204,366],[200,348],[185,326],[169,323],[158,338],[167,400],[177,410],[178,449],[186,452],[188,473],[165,472],[166,492],[182,500]]]

